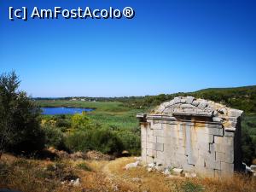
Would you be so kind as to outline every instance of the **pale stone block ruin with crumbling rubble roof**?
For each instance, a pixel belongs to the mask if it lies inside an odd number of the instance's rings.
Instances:
[[[241,170],[241,110],[192,96],[138,113],[142,160],[206,177]]]

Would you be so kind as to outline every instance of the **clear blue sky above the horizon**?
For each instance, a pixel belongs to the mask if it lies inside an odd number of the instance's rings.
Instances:
[[[9,6],[135,9],[133,19],[9,20]],[[31,96],[144,96],[256,84],[256,1],[1,0],[0,73]]]

